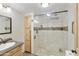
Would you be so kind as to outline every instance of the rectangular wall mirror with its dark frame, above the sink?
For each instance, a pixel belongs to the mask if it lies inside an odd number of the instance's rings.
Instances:
[[[12,32],[12,19],[0,15],[0,34],[10,34]]]

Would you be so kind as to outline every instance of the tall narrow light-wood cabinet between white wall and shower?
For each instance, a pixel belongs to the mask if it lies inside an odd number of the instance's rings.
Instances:
[[[31,53],[31,17],[26,16],[24,20],[24,32],[25,32],[25,51]]]

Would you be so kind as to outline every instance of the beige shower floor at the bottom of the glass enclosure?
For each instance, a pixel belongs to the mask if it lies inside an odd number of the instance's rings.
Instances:
[[[45,50],[38,50],[37,53],[35,53],[35,55],[38,56],[64,56],[65,52],[59,52],[59,51],[45,51]]]

